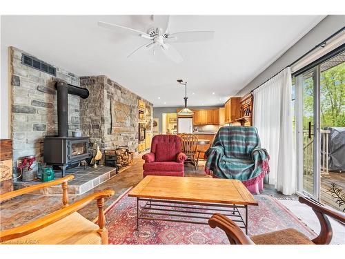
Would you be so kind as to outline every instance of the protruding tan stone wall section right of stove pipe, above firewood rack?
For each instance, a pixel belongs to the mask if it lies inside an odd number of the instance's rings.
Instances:
[[[152,132],[153,105],[103,75],[80,77],[80,86],[90,92],[88,99],[81,99],[80,102],[83,135],[89,135],[91,142],[97,142],[102,150],[129,146],[130,151],[137,153],[139,122],[146,123],[147,132]],[[143,100],[149,109],[142,120],[138,115],[138,99]],[[121,107],[126,108],[126,113],[119,111]],[[116,116],[112,116],[112,111],[124,113],[126,122],[114,121]]]

